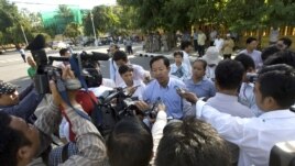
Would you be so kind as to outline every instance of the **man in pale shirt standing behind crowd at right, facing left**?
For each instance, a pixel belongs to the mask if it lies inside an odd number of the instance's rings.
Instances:
[[[255,63],[255,69],[260,69],[261,66],[263,65],[263,62],[261,58],[261,52],[256,51],[258,40],[254,37],[249,37],[247,38],[245,44],[247,44],[245,49],[241,51],[239,54],[243,53],[252,57],[252,59]]]

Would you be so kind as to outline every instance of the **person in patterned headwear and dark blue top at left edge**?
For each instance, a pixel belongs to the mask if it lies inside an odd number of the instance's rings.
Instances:
[[[0,82],[0,112],[33,123],[35,120],[34,112],[42,99],[43,95],[36,92],[33,84],[19,93],[17,86],[4,81]]]

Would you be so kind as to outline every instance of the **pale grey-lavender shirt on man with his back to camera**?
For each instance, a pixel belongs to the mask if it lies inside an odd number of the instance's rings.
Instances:
[[[229,113],[233,117],[251,118],[254,114],[249,108],[238,102],[238,97],[229,96],[217,92],[215,97],[209,98],[207,101],[208,106],[219,110],[220,112]],[[232,143],[227,142],[228,147],[231,152],[232,163],[238,163],[239,147]]]

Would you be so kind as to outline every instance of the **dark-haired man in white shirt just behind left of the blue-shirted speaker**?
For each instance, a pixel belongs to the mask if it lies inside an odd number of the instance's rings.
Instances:
[[[124,52],[121,52],[121,51],[116,52],[113,54],[112,59],[118,67],[120,67],[122,65],[130,65],[133,68],[133,79],[134,80],[146,81],[151,77],[150,71],[144,70],[139,65],[130,64],[130,62],[127,57],[127,54]],[[117,70],[116,75],[114,75],[114,84],[116,84],[116,86],[120,86],[122,82],[123,82],[123,79],[120,76],[119,71]]]

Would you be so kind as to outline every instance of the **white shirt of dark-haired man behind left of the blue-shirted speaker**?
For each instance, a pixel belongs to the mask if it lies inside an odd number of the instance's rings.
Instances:
[[[144,80],[144,77],[149,71],[144,70],[141,66],[134,65],[134,64],[129,64],[133,68],[133,80]],[[120,76],[119,71],[116,71],[116,78],[114,78],[114,84],[116,86],[120,86],[124,80]]]

